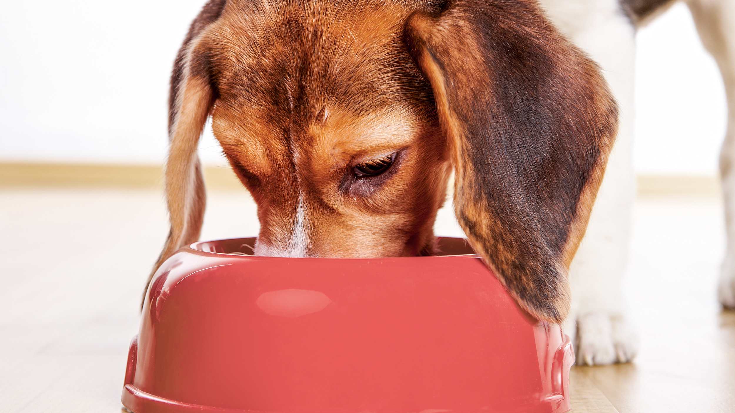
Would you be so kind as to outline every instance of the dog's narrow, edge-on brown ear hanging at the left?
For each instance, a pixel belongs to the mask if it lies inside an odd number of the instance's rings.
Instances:
[[[171,232],[148,277],[148,284],[163,261],[176,249],[197,241],[201,231],[205,194],[196,149],[216,98],[202,37],[207,27],[219,18],[225,4],[226,0],[210,0],[204,6],[191,24],[173,66],[168,102],[169,150],[165,168]]]

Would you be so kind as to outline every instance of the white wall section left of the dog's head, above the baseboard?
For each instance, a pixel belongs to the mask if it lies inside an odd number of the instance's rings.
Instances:
[[[203,0],[1,1],[0,159],[158,164]]]

